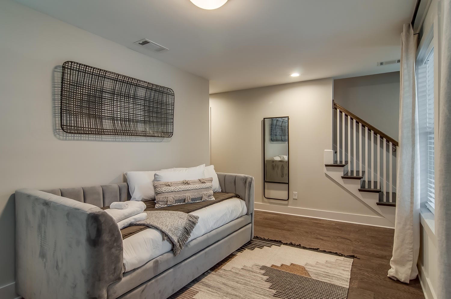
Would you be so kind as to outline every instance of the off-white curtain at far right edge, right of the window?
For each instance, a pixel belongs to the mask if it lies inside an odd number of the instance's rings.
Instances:
[[[441,83],[438,140],[435,154],[435,234],[437,236],[437,298],[451,296],[451,0],[443,0]]]

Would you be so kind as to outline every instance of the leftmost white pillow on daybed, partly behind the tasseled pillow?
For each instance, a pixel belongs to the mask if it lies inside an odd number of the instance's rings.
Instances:
[[[125,172],[131,200],[155,200],[155,189],[153,180],[157,171],[129,171]]]

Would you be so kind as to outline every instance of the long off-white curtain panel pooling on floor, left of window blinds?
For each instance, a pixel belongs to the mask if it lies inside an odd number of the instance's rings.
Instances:
[[[420,199],[419,136],[415,81],[417,37],[410,24],[401,34],[399,153],[393,256],[388,277],[409,283],[418,275]]]

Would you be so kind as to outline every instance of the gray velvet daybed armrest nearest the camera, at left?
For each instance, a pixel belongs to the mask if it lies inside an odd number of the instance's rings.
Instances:
[[[106,298],[123,244],[101,208],[39,190],[16,201],[16,291],[24,298]]]

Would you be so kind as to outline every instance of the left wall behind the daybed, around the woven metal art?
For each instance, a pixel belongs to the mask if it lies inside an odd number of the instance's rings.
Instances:
[[[195,166],[210,154],[207,80],[9,0],[0,4],[0,36],[1,288],[14,282],[14,190],[116,183],[125,171]],[[66,60],[172,88],[174,136],[57,138],[52,77]]]

